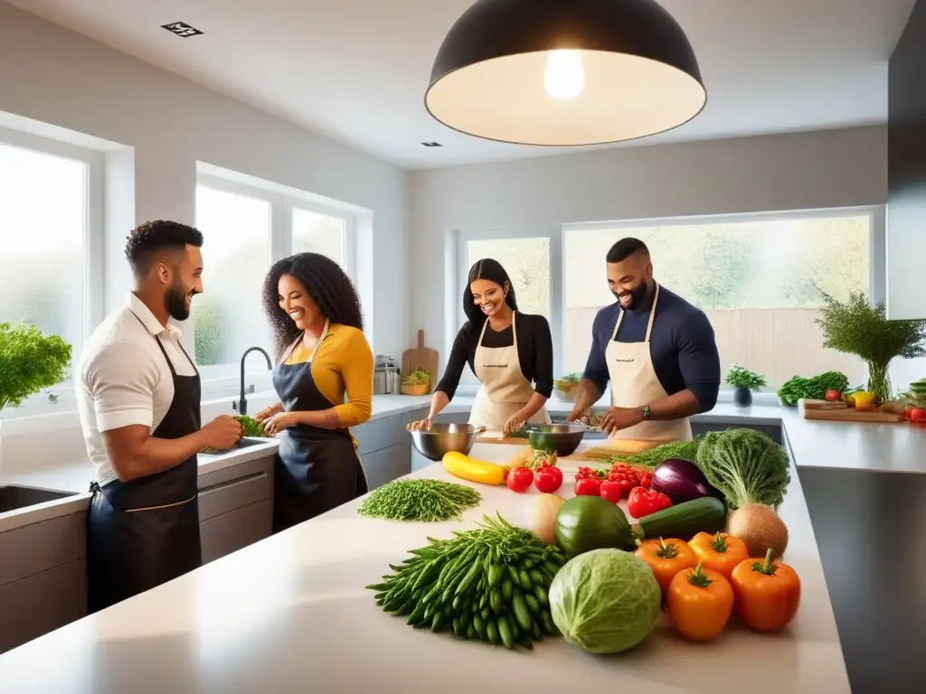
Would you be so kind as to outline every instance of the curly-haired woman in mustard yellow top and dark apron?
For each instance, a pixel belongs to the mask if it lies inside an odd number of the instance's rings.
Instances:
[[[273,500],[280,532],[367,492],[350,427],[369,419],[373,353],[357,291],[332,259],[283,258],[270,267],[263,295],[280,402],[255,419],[271,435],[282,432]]]

